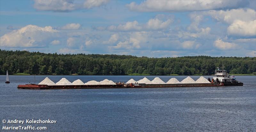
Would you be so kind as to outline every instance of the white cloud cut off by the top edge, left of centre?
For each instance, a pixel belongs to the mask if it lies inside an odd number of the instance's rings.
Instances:
[[[34,8],[41,11],[73,11],[91,9],[107,4],[107,0],[86,0],[84,4],[74,0],[35,0]]]

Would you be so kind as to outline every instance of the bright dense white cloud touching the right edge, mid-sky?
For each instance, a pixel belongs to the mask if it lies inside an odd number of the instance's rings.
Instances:
[[[248,22],[236,20],[228,26],[228,33],[238,36],[256,36],[256,20]]]

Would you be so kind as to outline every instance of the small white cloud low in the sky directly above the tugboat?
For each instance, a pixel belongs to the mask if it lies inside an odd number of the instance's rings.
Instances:
[[[238,45],[235,43],[224,42],[221,39],[214,41],[213,46],[220,50],[238,49]]]

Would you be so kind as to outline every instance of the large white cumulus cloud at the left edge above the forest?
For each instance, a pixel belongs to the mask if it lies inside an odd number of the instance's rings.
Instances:
[[[59,31],[51,26],[28,25],[1,36],[0,45],[2,47],[44,47],[53,40],[57,32]]]

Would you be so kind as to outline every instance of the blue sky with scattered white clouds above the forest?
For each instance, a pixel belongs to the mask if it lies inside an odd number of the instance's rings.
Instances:
[[[255,0],[1,0],[0,48],[256,57]]]

